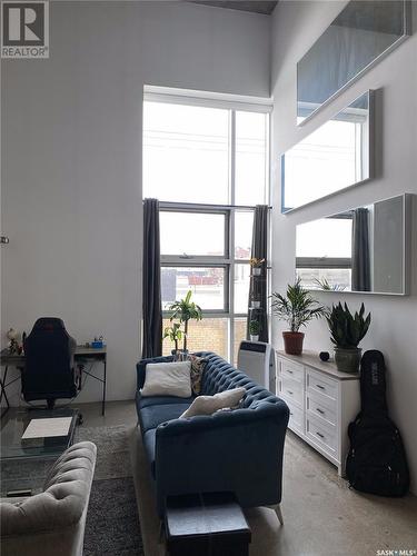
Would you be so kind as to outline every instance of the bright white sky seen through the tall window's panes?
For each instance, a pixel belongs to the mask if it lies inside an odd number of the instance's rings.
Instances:
[[[236,112],[235,205],[266,202],[266,118],[265,113]],[[227,109],[145,102],[143,197],[170,202],[231,203],[229,135]],[[252,216],[241,212],[237,220],[236,236],[242,245],[236,245],[236,257],[248,258]],[[214,220],[210,226],[205,224],[201,215],[188,215],[186,221],[182,216],[177,221],[173,216],[165,216],[161,252],[192,255],[206,250],[218,255],[225,230]],[[198,232],[200,228],[206,234]]]

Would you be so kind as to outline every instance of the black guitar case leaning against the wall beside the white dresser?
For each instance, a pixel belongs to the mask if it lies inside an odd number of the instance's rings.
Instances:
[[[404,496],[409,471],[403,440],[388,417],[385,361],[380,351],[369,350],[360,361],[361,409],[350,423],[350,450],[346,461],[349,485],[363,493]]]

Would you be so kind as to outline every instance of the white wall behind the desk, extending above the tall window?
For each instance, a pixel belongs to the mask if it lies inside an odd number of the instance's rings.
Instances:
[[[1,335],[61,316],[132,398],[143,85],[269,95],[269,18],[183,2],[51,2],[49,60],[2,63]],[[100,399],[90,380],[80,401]],[[18,396],[12,397],[18,403]]]

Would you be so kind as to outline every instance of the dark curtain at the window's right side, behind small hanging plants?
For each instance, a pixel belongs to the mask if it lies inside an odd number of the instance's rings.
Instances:
[[[254,232],[251,257],[265,259],[261,275],[252,277],[249,287],[249,307],[252,299],[260,300],[260,310],[248,311],[247,337],[249,338],[249,320],[260,324],[259,340],[268,341],[268,311],[267,311],[267,259],[268,259],[268,218],[267,205],[257,205],[254,214]]]

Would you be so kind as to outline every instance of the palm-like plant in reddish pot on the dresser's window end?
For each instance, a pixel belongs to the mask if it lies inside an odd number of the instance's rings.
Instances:
[[[288,284],[286,297],[274,292],[271,298],[274,315],[289,325],[289,330],[282,332],[286,354],[301,355],[304,332],[300,332],[299,329],[315,318],[325,317],[327,315],[326,307],[321,306],[307,289],[302,288],[300,278],[292,285]]]

